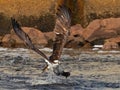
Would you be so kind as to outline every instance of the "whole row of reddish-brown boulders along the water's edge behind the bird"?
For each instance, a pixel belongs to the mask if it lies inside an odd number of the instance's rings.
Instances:
[[[22,28],[32,39],[33,44],[52,46],[55,40],[54,32],[42,33],[41,31],[23,27]],[[103,44],[103,49],[117,49],[120,43],[120,18],[97,19],[92,21],[86,28],[80,24],[71,26],[70,36],[65,47],[91,47],[95,42]],[[2,39],[3,46],[16,47],[17,45],[24,45],[13,30]]]

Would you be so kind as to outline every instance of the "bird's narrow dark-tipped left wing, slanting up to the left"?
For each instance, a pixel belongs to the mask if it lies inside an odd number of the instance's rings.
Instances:
[[[38,48],[36,48],[31,39],[29,38],[29,36],[21,29],[19,23],[11,18],[12,21],[12,26],[13,26],[13,30],[15,31],[15,33],[17,34],[17,36],[24,41],[24,43],[32,50],[34,50],[35,52],[37,52],[38,54],[40,54],[42,57],[44,57],[46,60],[48,60],[48,57],[41,52]]]

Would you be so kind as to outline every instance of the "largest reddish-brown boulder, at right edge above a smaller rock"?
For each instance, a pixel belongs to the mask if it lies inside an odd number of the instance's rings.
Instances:
[[[118,22],[120,22],[120,18],[94,20],[85,28],[82,35],[89,42],[116,37],[120,32],[120,23],[118,24]]]

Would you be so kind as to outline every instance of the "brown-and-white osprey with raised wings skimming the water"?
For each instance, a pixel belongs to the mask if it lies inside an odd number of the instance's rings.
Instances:
[[[56,75],[65,76],[66,78],[70,76],[70,72],[65,72],[64,70],[60,70],[60,56],[62,54],[64,45],[67,41],[67,38],[70,34],[70,25],[71,25],[71,17],[70,10],[65,6],[59,6],[56,13],[56,22],[54,33],[56,34],[56,38],[53,44],[53,52],[52,55],[48,58],[43,52],[41,52],[37,47],[35,47],[30,39],[30,37],[21,29],[19,23],[11,18],[13,30],[17,34],[17,36],[24,41],[24,43],[33,51],[40,54],[47,66],[43,69],[52,69]]]

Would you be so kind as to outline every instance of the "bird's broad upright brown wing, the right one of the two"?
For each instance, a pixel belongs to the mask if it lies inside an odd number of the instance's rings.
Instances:
[[[70,34],[69,33],[70,25],[71,25],[70,10],[65,6],[59,6],[56,13],[56,23],[54,29],[56,38],[53,45],[53,53],[50,56],[51,62],[60,59],[67,37]]]

